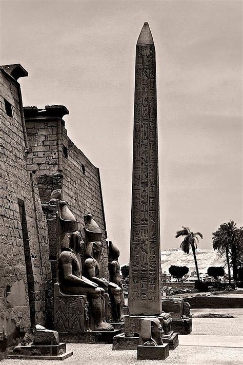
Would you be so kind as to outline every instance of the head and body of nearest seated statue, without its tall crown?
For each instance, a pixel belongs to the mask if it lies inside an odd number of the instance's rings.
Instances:
[[[106,323],[103,318],[102,296],[104,289],[82,275],[82,264],[79,256],[82,243],[84,244],[82,234],[76,230],[70,234],[69,247],[66,243],[62,253],[60,253],[58,261],[60,291],[67,295],[87,295],[95,330],[112,331],[113,326]]]

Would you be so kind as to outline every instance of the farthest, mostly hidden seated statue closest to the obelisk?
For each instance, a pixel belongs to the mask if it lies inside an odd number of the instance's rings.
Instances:
[[[124,322],[123,306],[125,304],[125,299],[123,294],[123,284],[122,281],[120,280],[120,265],[118,262],[118,257],[120,256],[120,252],[119,249],[111,241],[109,241],[108,255],[109,255],[108,270],[110,275],[109,279],[112,283],[118,285],[119,288],[121,289],[120,292],[114,290],[113,288],[111,288],[110,291],[112,317],[115,322]],[[119,297],[117,297],[118,295]]]

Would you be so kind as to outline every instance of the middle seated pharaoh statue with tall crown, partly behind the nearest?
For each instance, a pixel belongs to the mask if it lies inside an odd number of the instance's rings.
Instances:
[[[116,313],[113,320],[123,321],[122,289],[115,282],[103,278],[100,270],[100,258],[103,250],[102,232],[90,214],[85,216],[84,219],[86,224],[84,228],[86,234],[84,274],[89,280],[102,287],[106,293],[109,293],[112,312]]]

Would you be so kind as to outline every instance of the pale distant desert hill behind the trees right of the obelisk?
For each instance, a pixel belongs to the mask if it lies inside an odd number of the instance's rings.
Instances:
[[[198,248],[196,257],[199,273],[207,273],[209,266],[222,266],[225,267],[225,271],[227,272],[225,260],[219,258],[217,251],[213,249]],[[187,266],[189,267],[189,272],[195,270],[192,252],[185,254],[180,248],[168,248],[165,251],[161,251],[162,272],[164,273],[166,271],[166,273],[169,273],[169,267],[171,265]]]

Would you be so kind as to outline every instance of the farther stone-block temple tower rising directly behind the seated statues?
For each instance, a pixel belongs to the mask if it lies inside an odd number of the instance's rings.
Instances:
[[[105,248],[102,271],[103,277],[108,278],[107,233],[99,169],[67,136],[63,116],[68,113],[62,105],[44,109],[24,107],[30,148],[27,164],[29,171],[36,176],[47,217],[53,284],[56,282],[58,250],[56,212],[60,200],[68,202],[79,228],[84,227],[84,215],[90,213],[102,229]],[[52,322],[53,318],[50,318]]]

